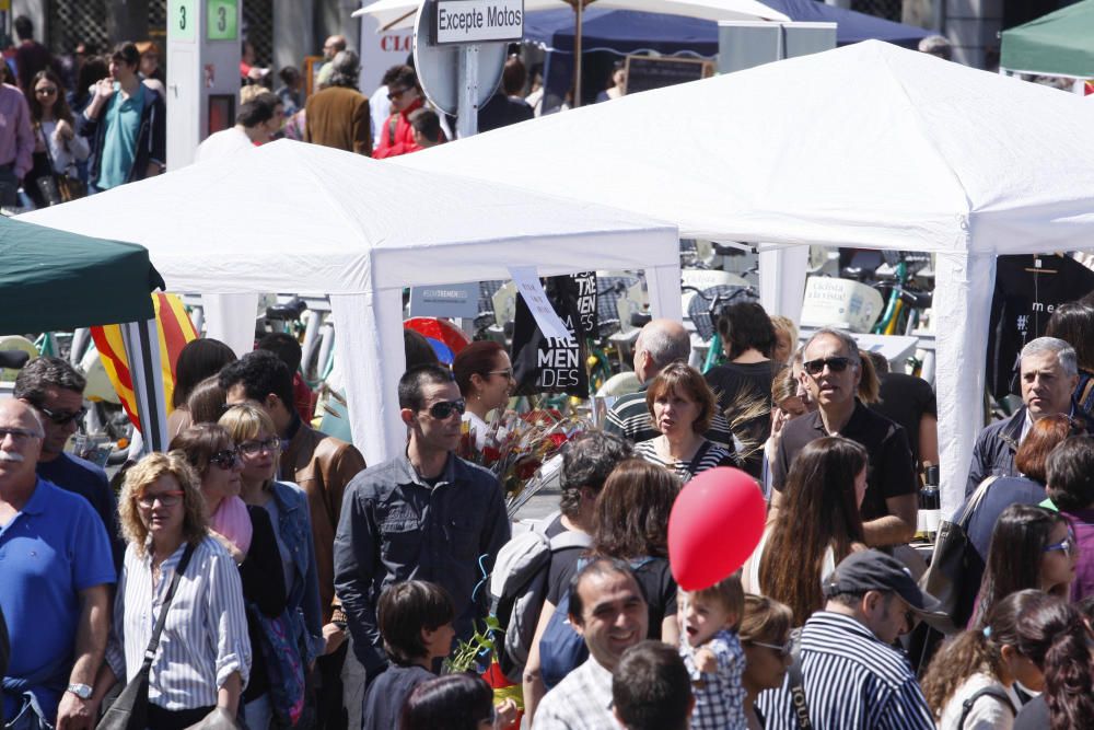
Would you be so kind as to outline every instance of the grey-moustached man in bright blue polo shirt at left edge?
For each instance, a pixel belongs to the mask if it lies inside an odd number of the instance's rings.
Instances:
[[[31,406],[0,403],[0,611],[11,637],[2,719],[92,728],[116,573],[91,505],[35,474],[44,436]]]

